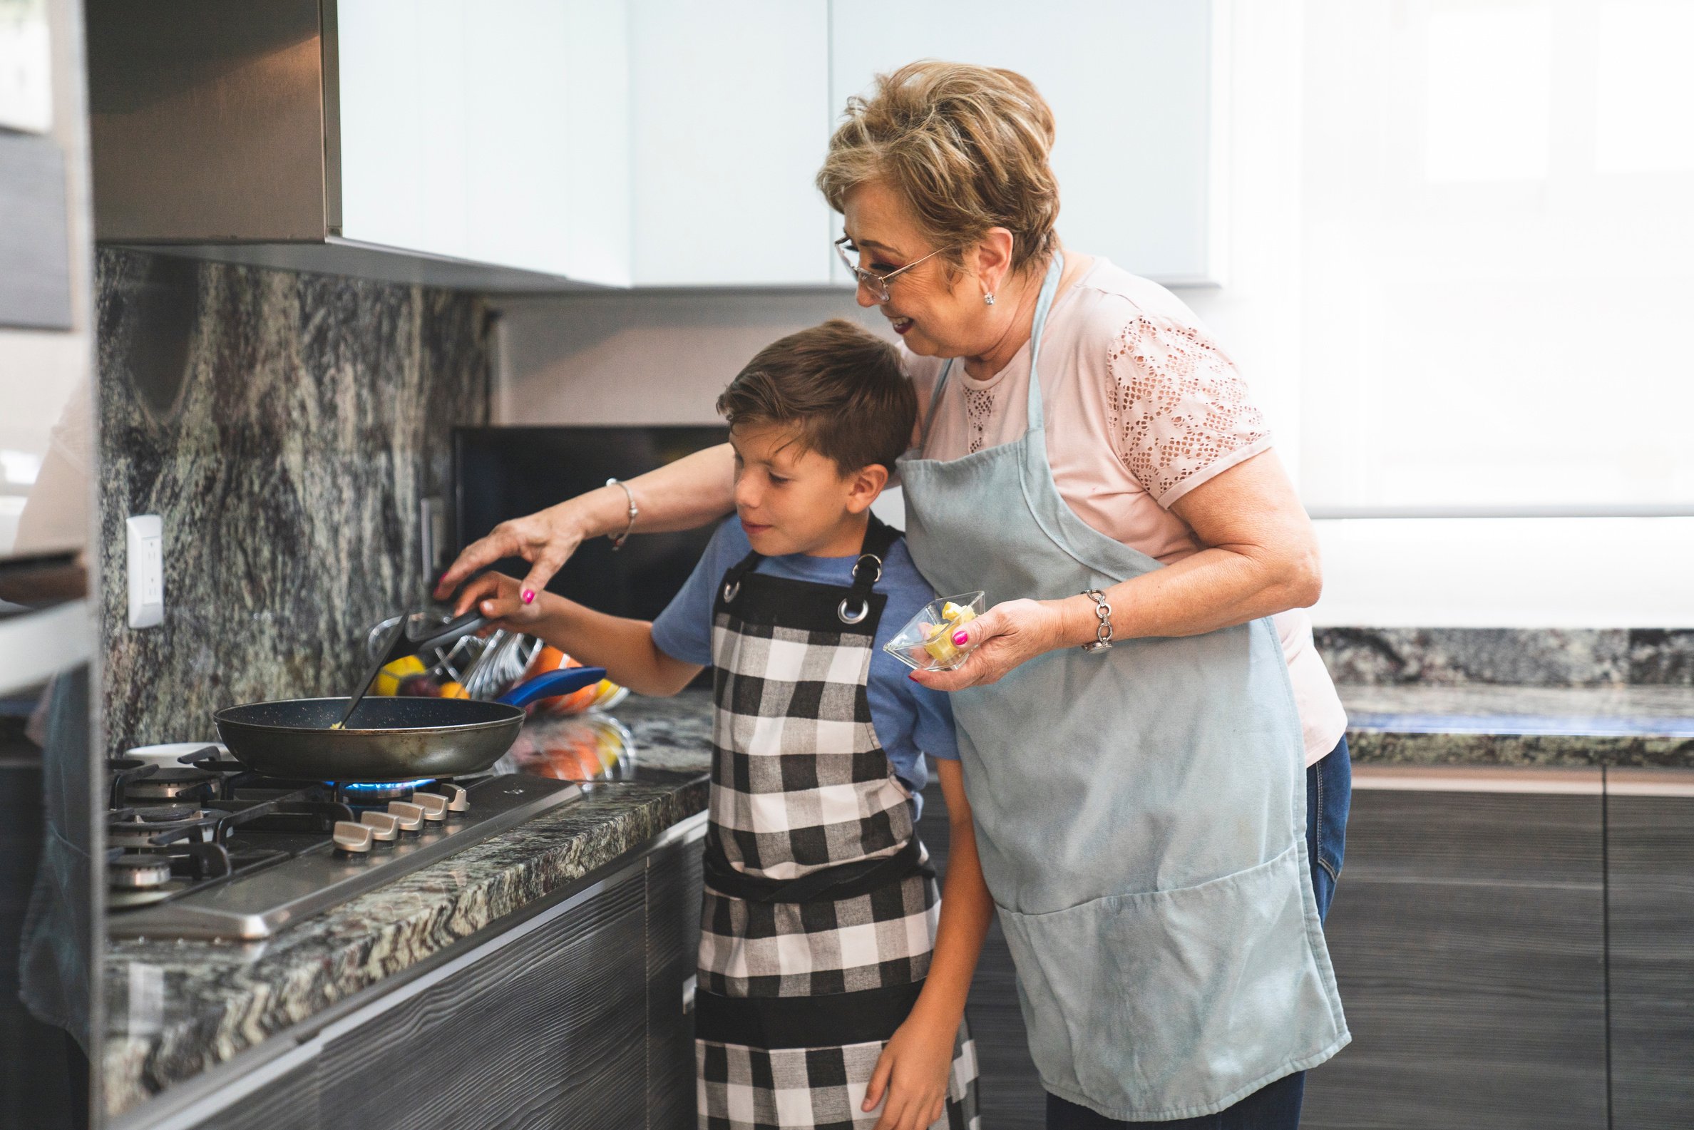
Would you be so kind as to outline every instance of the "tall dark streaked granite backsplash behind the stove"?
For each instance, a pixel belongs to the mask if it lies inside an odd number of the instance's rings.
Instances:
[[[418,503],[488,418],[486,308],[456,291],[102,249],[105,734],[346,693],[371,623],[425,593]],[[164,623],[127,625],[125,527],[164,522]]]

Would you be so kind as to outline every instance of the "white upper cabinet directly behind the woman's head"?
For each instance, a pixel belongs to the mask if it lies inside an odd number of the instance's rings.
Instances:
[[[1059,234],[1160,283],[1216,283],[1215,0],[855,0],[830,12],[830,105],[923,58],[1027,75],[1054,108]],[[847,281],[837,268],[837,281]]]

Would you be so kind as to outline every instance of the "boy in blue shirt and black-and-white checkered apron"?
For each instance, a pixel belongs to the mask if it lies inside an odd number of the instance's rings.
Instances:
[[[911,385],[889,344],[833,319],[759,351],[718,412],[735,517],[656,622],[525,605],[500,574],[459,608],[640,695],[715,669],[698,1125],[971,1127],[964,1000],[991,901],[947,698],[881,651],[932,600],[871,513],[913,432]],[[915,827],[925,752],[952,825],[940,915]]]

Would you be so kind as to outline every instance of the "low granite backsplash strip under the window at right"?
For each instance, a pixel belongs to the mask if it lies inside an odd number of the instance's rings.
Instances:
[[[1691,629],[1316,630],[1337,683],[1694,686]]]

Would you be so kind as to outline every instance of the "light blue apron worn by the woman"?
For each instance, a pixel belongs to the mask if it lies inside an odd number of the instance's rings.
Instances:
[[[1035,307],[1028,432],[900,461],[906,542],[940,593],[1052,600],[1162,568],[1054,486],[1035,366],[1060,269],[1054,256]],[[952,706],[1049,1091],[1108,1118],[1193,1118],[1347,1045],[1270,620],[1047,652]]]

